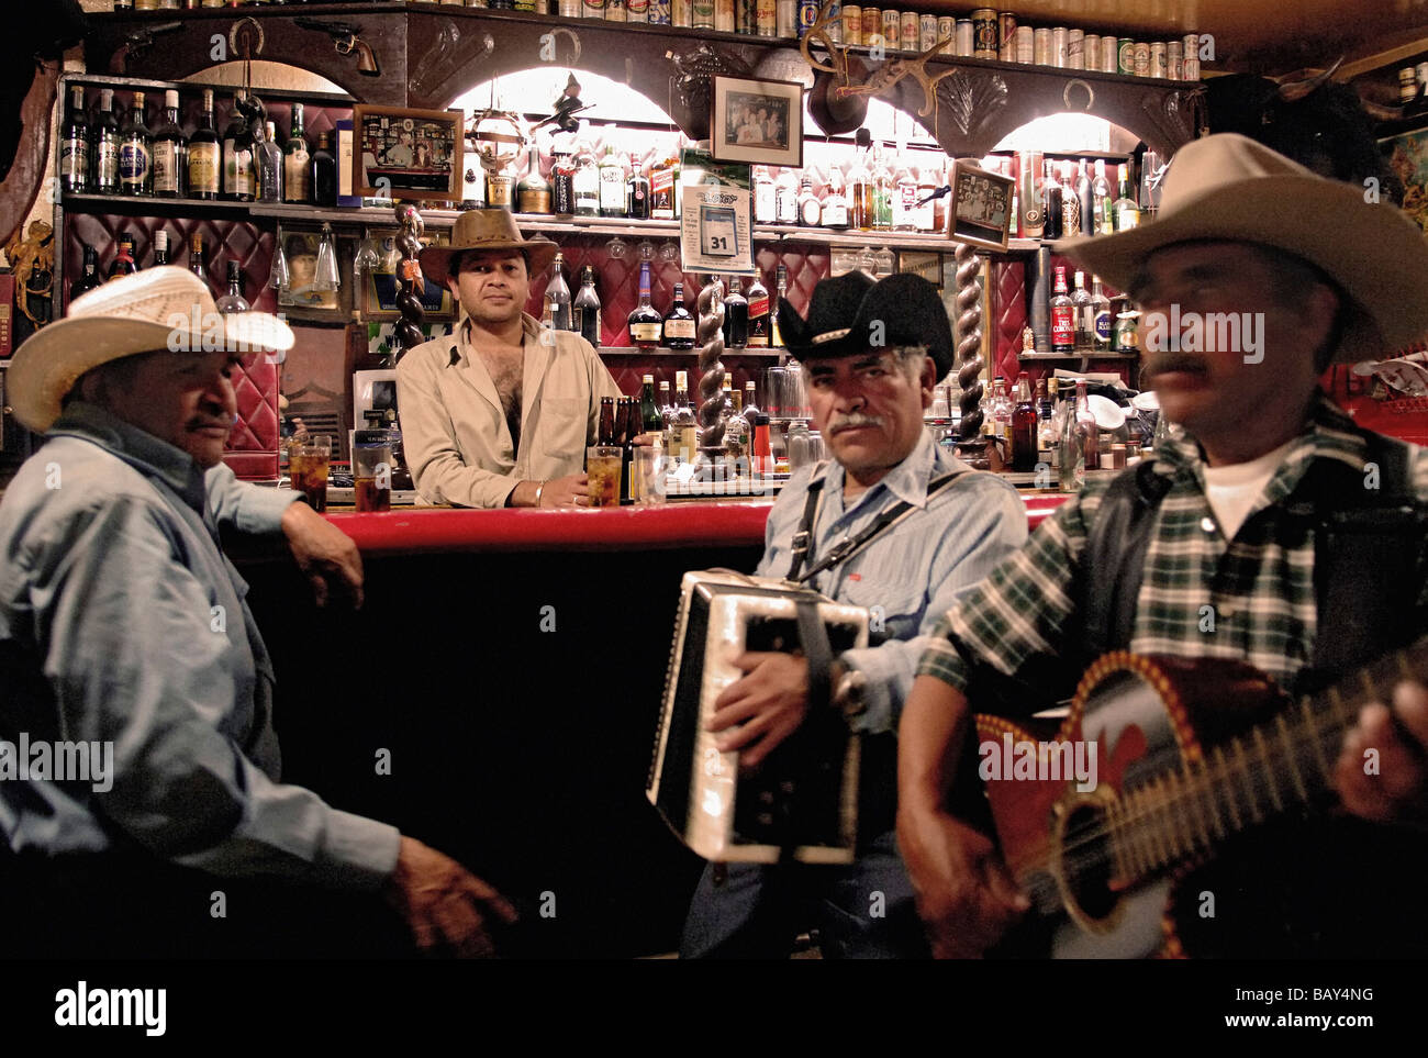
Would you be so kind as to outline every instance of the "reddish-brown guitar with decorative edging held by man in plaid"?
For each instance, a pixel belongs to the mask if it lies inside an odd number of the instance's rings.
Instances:
[[[1359,708],[1424,672],[1428,638],[1291,704],[1238,661],[1115,651],[1087,670],[1051,740],[977,715],[1007,867],[1032,914],[1060,920],[1052,958],[1184,955],[1177,871],[1261,822],[1332,805],[1334,762]],[[1094,788],[1075,778],[1092,760]]]

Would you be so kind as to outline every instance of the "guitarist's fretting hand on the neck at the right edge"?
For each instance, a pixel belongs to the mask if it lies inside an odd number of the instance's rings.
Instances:
[[[1394,714],[1379,702],[1359,711],[1344,738],[1334,785],[1344,807],[1365,820],[1428,820],[1428,690],[1398,684]],[[1378,751],[1377,761],[1369,750]]]

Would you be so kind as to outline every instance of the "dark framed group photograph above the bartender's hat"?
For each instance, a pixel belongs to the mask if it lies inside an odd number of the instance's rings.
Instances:
[[[461,200],[460,110],[353,107],[353,194]]]

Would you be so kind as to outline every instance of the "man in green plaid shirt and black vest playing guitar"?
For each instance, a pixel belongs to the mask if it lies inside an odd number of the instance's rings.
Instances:
[[[1220,134],[1181,147],[1155,223],[1058,248],[1140,303],[1145,376],[1184,434],[1088,484],[930,638],[898,838],[944,955],[982,952],[1030,908],[985,830],[947,808],[970,712],[1031,712],[1118,648],[1247,661],[1298,692],[1428,630],[1428,453],[1358,428],[1318,386],[1428,334],[1422,233]],[[1351,700],[1337,762],[1298,761],[1347,814],[1257,828],[1181,880],[1214,900],[1178,915],[1187,951],[1425,954],[1411,824],[1428,818],[1428,694],[1375,697]]]

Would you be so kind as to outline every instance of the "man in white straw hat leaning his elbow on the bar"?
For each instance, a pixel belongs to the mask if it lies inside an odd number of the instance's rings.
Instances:
[[[291,346],[277,317],[221,316],[160,267],[14,356],[10,403],[46,443],[0,501],[7,941],[29,925],[51,955],[321,955],[414,935],[476,954],[481,914],[511,914],[440,852],[278,781],[273,668],[218,531],[281,533],[320,603],[361,600],[350,540],[223,464],[234,360]],[[16,760],[51,744],[57,767],[76,742],[86,782]]]

